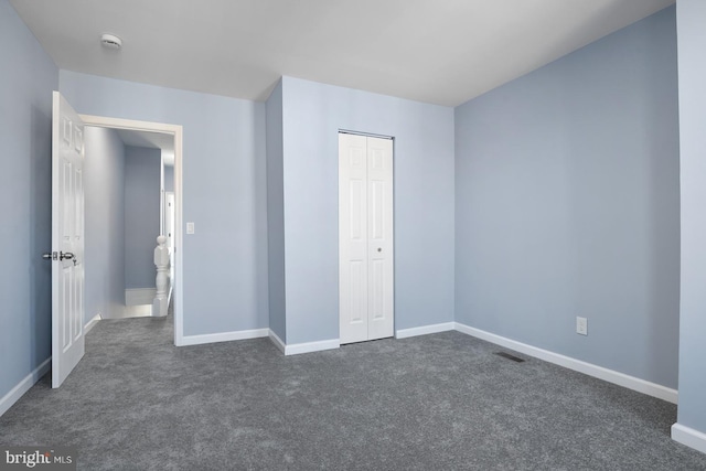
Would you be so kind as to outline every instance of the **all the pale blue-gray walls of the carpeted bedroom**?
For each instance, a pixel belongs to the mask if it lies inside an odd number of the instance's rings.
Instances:
[[[678,420],[706,431],[705,21],[702,1],[680,0],[680,338],[674,8],[454,114],[290,77],[265,105],[60,73],[0,0],[0,244],[17,267],[0,282],[0,397],[50,355],[40,256],[60,86],[79,113],[184,126],[186,335],[338,338],[336,132],[389,135],[397,329],[456,319],[670,387],[681,342]]]

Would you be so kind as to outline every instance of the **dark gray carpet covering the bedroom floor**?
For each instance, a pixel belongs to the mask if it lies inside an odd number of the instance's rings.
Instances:
[[[0,443],[78,469],[706,470],[676,407],[458,332],[285,357],[267,339],[174,347],[171,317],[104,320]]]

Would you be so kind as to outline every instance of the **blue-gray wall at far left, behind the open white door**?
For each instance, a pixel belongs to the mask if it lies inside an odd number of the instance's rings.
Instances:
[[[0,0],[0,398],[51,355],[52,90],[58,71]]]

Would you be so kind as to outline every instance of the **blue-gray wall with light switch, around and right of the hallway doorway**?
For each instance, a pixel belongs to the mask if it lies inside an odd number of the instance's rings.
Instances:
[[[266,328],[265,104],[68,71],[60,90],[78,113],[183,126],[184,335]]]

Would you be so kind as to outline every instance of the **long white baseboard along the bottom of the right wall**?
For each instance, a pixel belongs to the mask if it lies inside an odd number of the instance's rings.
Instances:
[[[536,358],[544,360],[545,362],[554,363],[556,365],[637,390],[638,393],[677,404],[678,394],[676,389],[640,379],[613,370],[608,370],[602,366],[593,365],[591,363],[582,362],[580,360],[571,358],[570,356],[549,352],[548,350],[537,349],[536,346],[527,345],[526,343],[517,342],[501,335],[495,335],[494,333],[485,332],[480,329],[474,329],[460,322],[456,322],[456,330],[496,345],[524,353],[525,355],[534,356]]]

